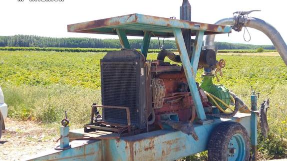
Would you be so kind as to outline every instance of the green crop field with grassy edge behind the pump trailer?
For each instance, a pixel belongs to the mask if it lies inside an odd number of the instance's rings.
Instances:
[[[220,53],[226,60],[220,84],[250,105],[251,86],[260,92],[259,103],[270,99],[267,139],[259,137],[262,159],[287,158],[287,67],[278,54]],[[100,59],[105,52],[0,51],[0,86],[8,117],[36,121],[58,129],[68,111],[71,129],[87,123],[90,106],[100,103]],[[148,59],[156,59],[150,53]],[[201,81],[202,70],[197,81]],[[216,80],[214,80],[215,83]],[[187,159],[203,159],[206,153]]]

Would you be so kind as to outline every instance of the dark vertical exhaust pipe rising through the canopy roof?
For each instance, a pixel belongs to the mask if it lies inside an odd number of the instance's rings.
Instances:
[[[191,20],[191,5],[188,0],[183,0],[182,6],[180,6],[180,19]],[[183,39],[187,49],[189,58],[191,58],[191,30],[182,29]]]

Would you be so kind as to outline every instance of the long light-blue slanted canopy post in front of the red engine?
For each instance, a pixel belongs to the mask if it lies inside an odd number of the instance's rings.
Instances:
[[[198,88],[195,82],[195,76],[194,76],[194,71],[191,66],[191,63],[189,61],[187,49],[184,43],[182,31],[180,28],[173,28],[173,34],[175,37],[176,45],[179,50],[179,55],[180,59],[182,61],[183,69],[188,81],[189,89],[191,91],[192,99],[194,101],[195,107],[196,107],[196,112],[197,116],[201,121],[206,120],[206,115],[203,109],[203,105],[200,99],[200,95],[198,92]],[[202,41],[202,39],[198,39],[199,41]],[[196,51],[197,52],[197,51]],[[195,52],[195,53],[196,53]],[[198,62],[196,62],[198,64]]]

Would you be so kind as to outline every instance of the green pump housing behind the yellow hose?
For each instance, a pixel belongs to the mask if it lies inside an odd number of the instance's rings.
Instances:
[[[202,88],[204,91],[213,94],[217,98],[221,99],[224,101],[226,104],[230,104],[231,101],[231,96],[229,94],[229,90],[224,87],[223,85],[215,85],[212,82],[212,79],[215,77],[215,75],[202,75],[202,82],[200,85],[200,88]],[[208,98],[209,101],[212,103],[212,106],[216,106],[215,103]],[[221,108],[224,110],[227,109],[226,106],[224,106],[221,102],[217,101],[216,102],[219,104]]]

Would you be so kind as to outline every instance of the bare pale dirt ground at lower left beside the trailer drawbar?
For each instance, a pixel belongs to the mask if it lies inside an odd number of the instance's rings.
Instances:
[[[34,122],[5,120],[6,130],[0,139],[0,161],[23,161],[55,146],[55,129]]]

